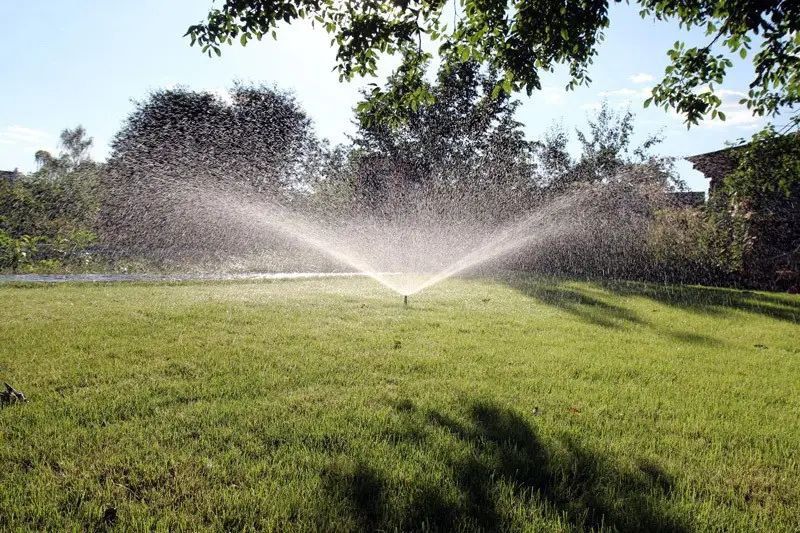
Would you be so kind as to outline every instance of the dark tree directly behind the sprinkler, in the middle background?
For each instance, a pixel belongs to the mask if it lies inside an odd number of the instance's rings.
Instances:
[[[390,78],[387,90],[398,82]],[[432,102],[405,110],[393,124],[374,120],[383,102],[366,92],[356,107],[353,139],[362,197],[373,207],[396,209],[420,188],[427,205],[440,193],[439,201],[450,198],[458,203],[450,208],[465,214],[470,207],[491,212],[486,202],[524,202],[536,188],[533,143],[514,117],[519,102],[492,98],[494,83],[475,62],[445,65],[435,83],[425,82]]]

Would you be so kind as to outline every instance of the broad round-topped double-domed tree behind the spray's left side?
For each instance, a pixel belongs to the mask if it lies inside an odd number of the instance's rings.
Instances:
[[[134,255],[244,249],[249,237],[227,238],[229,227],[217,222],[233,207],[226,193],[293,201],[308,186],[316,142],[294,97],[271,87],[237,85],[227,99],[156,91],[136,104],[112,142],[102,212],[107,242]]]

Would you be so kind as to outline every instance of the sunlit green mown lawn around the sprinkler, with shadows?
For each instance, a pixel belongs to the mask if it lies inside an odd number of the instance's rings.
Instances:
[[[797,531],[800,298],[0,286],[0,529]]]

